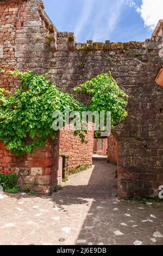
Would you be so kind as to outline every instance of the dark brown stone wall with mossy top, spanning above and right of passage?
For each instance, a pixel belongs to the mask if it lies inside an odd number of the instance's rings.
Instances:
[[[51,78],[62,90],[111,70],[118,85],[129,95],[128,117],[114,131],[118,141],[118,194],[120,197],[158,194],[163,183],[162,109],[163,88],[155,83],[162,66],[162,36],[145,42],[75,44],[72,33],[58,33],[58,51]],[[76,95],[87,101],[86,95]]]

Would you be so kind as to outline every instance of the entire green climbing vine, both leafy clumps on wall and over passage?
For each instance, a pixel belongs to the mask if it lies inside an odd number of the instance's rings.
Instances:
[[[102,74],[76,88],[91,94],[89,106],[74,99],[71,94],[61,92],[43,75],[33,72],[10,72],[20,77],[22,86],[14,93],[0,89],[0,140],[8,150],[22,155],[32,153],[36,147],[42,147],[50,136],[55,138],[52,128],[53,112],[64,113],[65,107],[70,111],[111,111],[112,125],[127,115],[127,95],[113,80],[111,73]],[[82,141],[83,133],[79,133]]]

